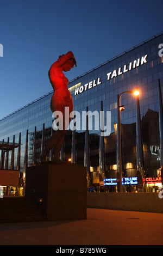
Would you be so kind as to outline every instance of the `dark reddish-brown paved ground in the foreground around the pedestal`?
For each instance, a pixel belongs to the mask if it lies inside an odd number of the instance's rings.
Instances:
[[[163,214],[87,209],[86,220],[5,223],[0,245],[163,245]]]

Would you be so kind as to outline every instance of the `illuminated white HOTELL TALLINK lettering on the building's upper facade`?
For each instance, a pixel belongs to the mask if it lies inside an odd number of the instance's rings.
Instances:
[[[123,67],[118,68],[117,70],[115,69],[114,71],[108,72],[107,80],[111,80],[112,78],[115,78],[117,76],[125,74],[126,72],[128,72],[132,69],[135,69],[140,65],[143,65],[143,64],[147,63],[147,57],[148,57],[148,55],[146,54],[145,56],[142,56],[139,59],[135,59],[133,62],[130,62],[130,63],[124,65]],[[80,86],[80,87],[76,88],[75,92],[74,92],[74,95],[77,95],[79,93],[83,93],[85,90],[88,90],[88,89],[91,89],[95,86],[98,86],[101,83],[102,83],[101,78],[98,77],[97,80],[90,81],[89,83],[84,84],[84,86]],[[80,85],[80,84],[81,83],[79,83],[77,85]]]

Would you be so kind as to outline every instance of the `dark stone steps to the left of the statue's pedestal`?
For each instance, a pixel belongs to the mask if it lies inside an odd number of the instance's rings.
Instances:
[[[46,221],[34,202],[26,197],[0,198],[0,223]]]

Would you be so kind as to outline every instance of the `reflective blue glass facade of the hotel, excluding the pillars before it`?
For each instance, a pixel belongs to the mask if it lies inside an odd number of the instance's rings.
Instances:
[[[111,126],[108,134],[103,137],[103,180],[105,191],[116,191],[117,170],[117,95],[121,95],[121,134],[122,134],[122,170],[123,181],[125,178],[135,177],[137,171],[136,154],[136,97],[130,93],[139,89],[139,106],[141,119],[141,135],[143,147],[143,165],[145,177],[157,177],[160,168],[160,134],[159,134],[159,103],[158,80],[163,93],[163,57],[159,56],[159,45],[163,42],[163,34],[154,36],[142,44],[116,56],[108,62],[99,65],[86,74],[83,74],[68,83],[68,88],[73,97],[74,111],[82,112],[101,111],[103,103],[104,125],[108,119],[106,112],[111,114]],[[0,141],[18,143],[21,133],[21,172],[24,170],[24,154],[26,148],[26,135],[28,130],[28,166],[33,161],[34,131],[36,127],[36,159],[40,162],[42,127],[45,124],[45,144],[52,132],[52,112],[50,102],[53,92],[42,96],[29,105],[0,120]],[[97,112],[96,112],[97,114]],[[100,164],[100,129],[95,118],[89,118],[89,173],[92,185],[103,185],[99,173]],[[76,162],[84,165],[86,119],[81,119],[76,130]],[[83,126],[82,126],[83,125]],[[71,158],[72,131],[67,131],[64,143],[64,160]],[[9,154],[10,166],[11,154]],[[50,159],[50,157],[49,157]],[[17,164],[17,149],[15,150],[15,168]],[[5,167],[4,167],[5,168]],[[9,167],[10,168],[10,167]],[[114,179],[114,181],[112,181]],[[108,185],[107,185],[108,184]],[[102,186],[101,186],[102,189]],[[126,190],[135,191],[126,186]]]

